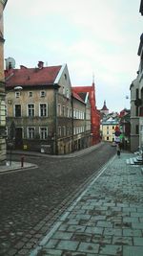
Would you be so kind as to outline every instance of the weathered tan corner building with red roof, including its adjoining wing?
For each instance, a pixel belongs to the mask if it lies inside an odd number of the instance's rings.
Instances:
[[[6,89],[8,141],[16,149],[65,154],[91,146],[88,96],[72,94],[67,65],[10,67]]]

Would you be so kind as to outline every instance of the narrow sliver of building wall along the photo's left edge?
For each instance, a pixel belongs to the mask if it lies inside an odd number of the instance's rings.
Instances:
[[[6,160],[6,107],[5,107],[5,76],[4,76],[4,24],[3,11],[8,0],[0,0],[0,164]]]

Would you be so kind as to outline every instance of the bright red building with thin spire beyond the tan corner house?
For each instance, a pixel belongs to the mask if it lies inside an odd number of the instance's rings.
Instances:
[[[92,86],[73,86],[72,91],[78,93],[88,92],[91,104],[91,122],[92,122],[92,145],[100,142],[100,115],[96,108],[95,102],[95,86],[92,82]]]

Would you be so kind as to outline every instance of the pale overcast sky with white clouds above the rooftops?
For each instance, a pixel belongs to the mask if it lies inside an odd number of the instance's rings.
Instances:
[[[95,83],[96,106],[130,108],[143,16],[140,0],[9,0],[5,58],[15,67],[67,63],[72,86]],[[128,99],[127,99],[128,98]]]

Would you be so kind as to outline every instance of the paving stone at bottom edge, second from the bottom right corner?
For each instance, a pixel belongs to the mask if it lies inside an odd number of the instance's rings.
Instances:
[[[121,245],[104,245],[104,246],[100,246],[100,253],[101,254],[108,254],[108,255],[113,255],[113,256],[117,256],[121,254],[122,251],[122,246]],[[127,255],[126,255],[127,256]]]

